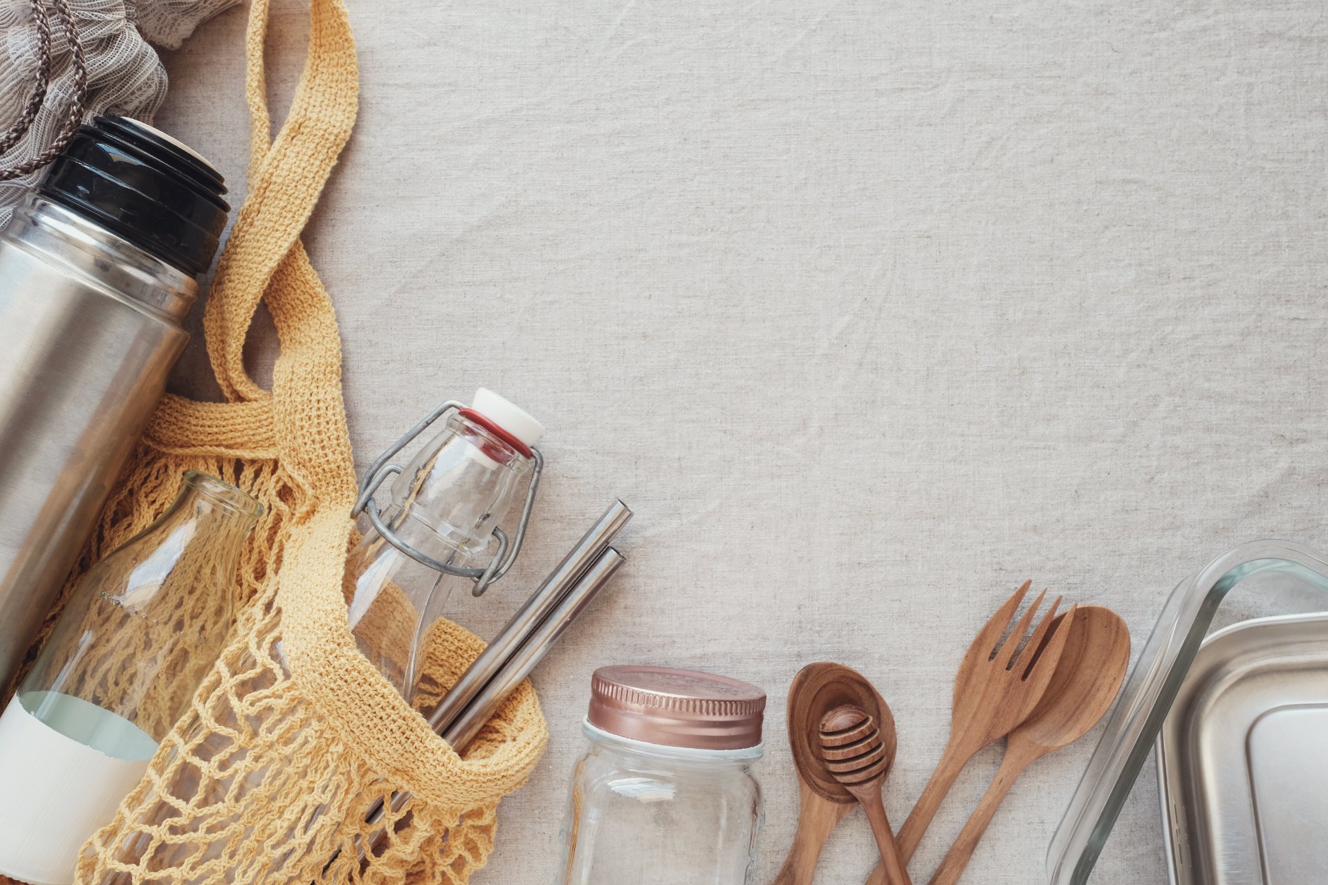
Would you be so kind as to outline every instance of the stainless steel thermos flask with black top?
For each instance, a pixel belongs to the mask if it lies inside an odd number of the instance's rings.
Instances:
[[[0,689],[185,348],[224,192],[185,145],[98,117],[0,230]]]

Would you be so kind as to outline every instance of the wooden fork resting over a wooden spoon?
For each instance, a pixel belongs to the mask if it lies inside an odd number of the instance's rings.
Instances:
[[[1019,606],[1028,593],[1032,581],[1015,590],[1005,605],[1000,608],[987,621],[981,632],[968,646],[963,663],[959,665],[959,675],[955,677],[954,710],[950,719],[950,742],[946,751],[936,763],[936,770],[931,774],[931,780],[918,797],[908,820],[900,828],[895,843],[899,845],[899,856],[907,864],[922,836],[927,832],[936,809],[950,788],[955,785],[955,779],[968,760],[979,750],[989,743],[1000,740],[1019,727],[1033,711],[1042,693],[1056,673],[1056,662],[1065,647],[1068,629],[1052,632],[1052,624],[1069,628],[1074,618],[1074,609],[1070,608],[1064,616],[1064,622],[1056,618],[1056,608],[1061,598],[1056,597],[1050,610],[1042,617],[1041,624],[1021,645],[1021,640],[1028,634],[1028,628],[1033,622],[1033,616],[1041,608],[1046,590],[1038,594],[1037,601],[1029,606],[1028,612],[1009,633],[1009,638],[1001,642],[1005,629],[1019,613]],[[1028,651],[1027,649],[1032,649]],[[876,868],[867,878],[867,885],[887,885],[884,868]]]

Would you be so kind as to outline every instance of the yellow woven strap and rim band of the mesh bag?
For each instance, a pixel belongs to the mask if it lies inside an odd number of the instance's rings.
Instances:
[[[502,752],[462,760],[359,653],[341,590],[353,459],[341,397],[341,344],[332,301],[299,239],[351,135],[359,94],[355,41],[343,0],[311,0],[304,72],[271,137],[264,94],[270,0],[254,0],[246,34],[250,190],[236,215],[205,313],[208,356],[228,403],[270,411],[276,458],[309,499],[292,515],[278,604],[283,650],[300,694],[339,723],[348,748],[433,813],[494,803],[519,785],[547,731],[523,683],[505,705],[515,730]],[[243,366],[259,301],[280,340],[272,390]],[[477,651],[478,653],[478,651]],[[424,811],[424,805],[417,805]]]

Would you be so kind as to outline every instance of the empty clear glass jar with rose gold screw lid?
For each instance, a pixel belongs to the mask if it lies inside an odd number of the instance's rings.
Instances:
[[[669,667],[600,667],[563,823],[563,885],[749,885],[765,693]]]

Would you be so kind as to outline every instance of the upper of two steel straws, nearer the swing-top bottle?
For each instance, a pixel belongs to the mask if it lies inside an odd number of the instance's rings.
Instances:
[[[576,579],[584,575],[586,569],[608,548],[608,543],[614,539],[614,535],[631,517],[632,511],[620,500],[614,502],[612,507],[604,511],[599,521],[563,557],[563,561],[544,579],[539,589],[511,616],[507,625],[498,632],[498,636],[489,644],[489,647],[461,675],[457,685],[452,686],[448,694],[444,695],[438,706],[425,714],[434,731],[446,736],[462,710],[470,706],[470,702],[483,690],[485,685],[494,678],[499,669],[506,666],[507,658],[548,617],[550,612],[558,606],[572,588]],[[449,743],[459,750],[456,742],[449,740]]]

